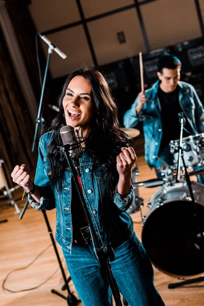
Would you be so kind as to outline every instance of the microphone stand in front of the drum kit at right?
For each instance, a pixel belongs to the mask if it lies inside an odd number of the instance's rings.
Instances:
[[[182,162],[183,162],[183,166],[184,166],[184,170],[185,170],[186,182],[187,182],[187,185],[188,185],[188,189],[189,189],[189,192],[190,192],[191,201],[192,201],[192,205],[193,205],[193,215],[196,217],[197,230],[200,234],[200,237],[202,238],[203,246],[204,246],[204,236],[203,236],[203,233],[201,231],[200,221],[199,221],[199,218],[198,218],[198,215],[197,215],[197,212],[198,212],[197,203],[195,202],[195,197],[194,197],[193,190],[192,190],[190,175],[189,175],[189,172],[187,171],[186,163],[185,163],[185,160],[184,160],[184,151],[183,151],[183,145],[182,145],[183,129],[184,129],[184,124],[185,124],[184,113],[179,113],[179,121],[180,121],[180,124],[181,124],[181,130],[180,130],[180,141],[179,141],[179,157],[178,157],[177,171],[176,171],[176,183],[180,182],[180,168],[181,168],[181,158],[182,158]],[[184,285],[187,285],[187,284],[193,284],[193,283],[198,283],[198,282],[203,282],[203,281],[204,281],[204,275],[202,275],[200,277],[196,277],[196,278],[187,279],[186,281],[183,281],[183,282],[180,282],[180,283],[169,284],[168,289],[174,289],[174,288],[181,287],[181,286],[184,286]]]

